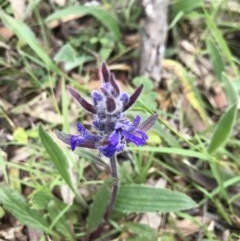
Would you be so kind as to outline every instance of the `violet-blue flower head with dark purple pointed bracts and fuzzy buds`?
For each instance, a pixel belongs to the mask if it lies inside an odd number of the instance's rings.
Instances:
[[[131,96],[121,93],[114,75],[109,72],[105,63],[102,64],[100,76],[103,84],[101,91],[92,92],[92,104],[82,98],[75,89],[68,87],[70,94],[93,115],[92,127],[96,134],[92,134],[78,123],[80,135],[69,135],[61,131],[56,131],[56,135],[70,145],[72,150],[76,147],[98,149],[106,157],[123,151],[128,142],[143,146],[148,139],[146,132],[157,120],[157,115],[152,115],[140,123],[140,116],[137,115],[135,120],[130,122],[124,113],[136,102],[143,85],[140,85]]]

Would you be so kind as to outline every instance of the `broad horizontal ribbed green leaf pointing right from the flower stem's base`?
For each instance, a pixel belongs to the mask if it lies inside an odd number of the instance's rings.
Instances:
[[[144,185],[120,186],[115,209],[121,212],[176,212],[195,202],[183,193]]]

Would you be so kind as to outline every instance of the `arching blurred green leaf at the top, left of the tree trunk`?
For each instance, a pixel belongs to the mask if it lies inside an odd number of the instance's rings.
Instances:
[[[89,6],[71,6],[65,9],[59,10],[48,16],[46,22],[53,20],[59,20],[70,15],[91,15],[95,17],[101,24],[103,24],[108,30],[114,35],[115,39],[118,40],[121,36],[118,22],[110,13],[100,7],[89,7]]]

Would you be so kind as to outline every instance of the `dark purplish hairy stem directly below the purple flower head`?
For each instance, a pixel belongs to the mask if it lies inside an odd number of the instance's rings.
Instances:
[[[112,214],[114,204],[116,202],[116,197],[119,189],[119,177],[118,177],[118,169],[117,169],[117,158],[114,155],[110,158],[110,165],[111,165],[111,175],[115,179],[114,184],[112,186],[112,193],[110,196],[110,201],[107,207],[107,211],[105,213],[105,221],[109,220],[109,217]]]

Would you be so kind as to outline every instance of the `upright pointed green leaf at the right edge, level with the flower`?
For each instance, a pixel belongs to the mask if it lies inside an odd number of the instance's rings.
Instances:
[[[209,153],[213,153],[227,141],[233,128],[236,112],[237,104],[233,104],[217,123],[208,147]]]

